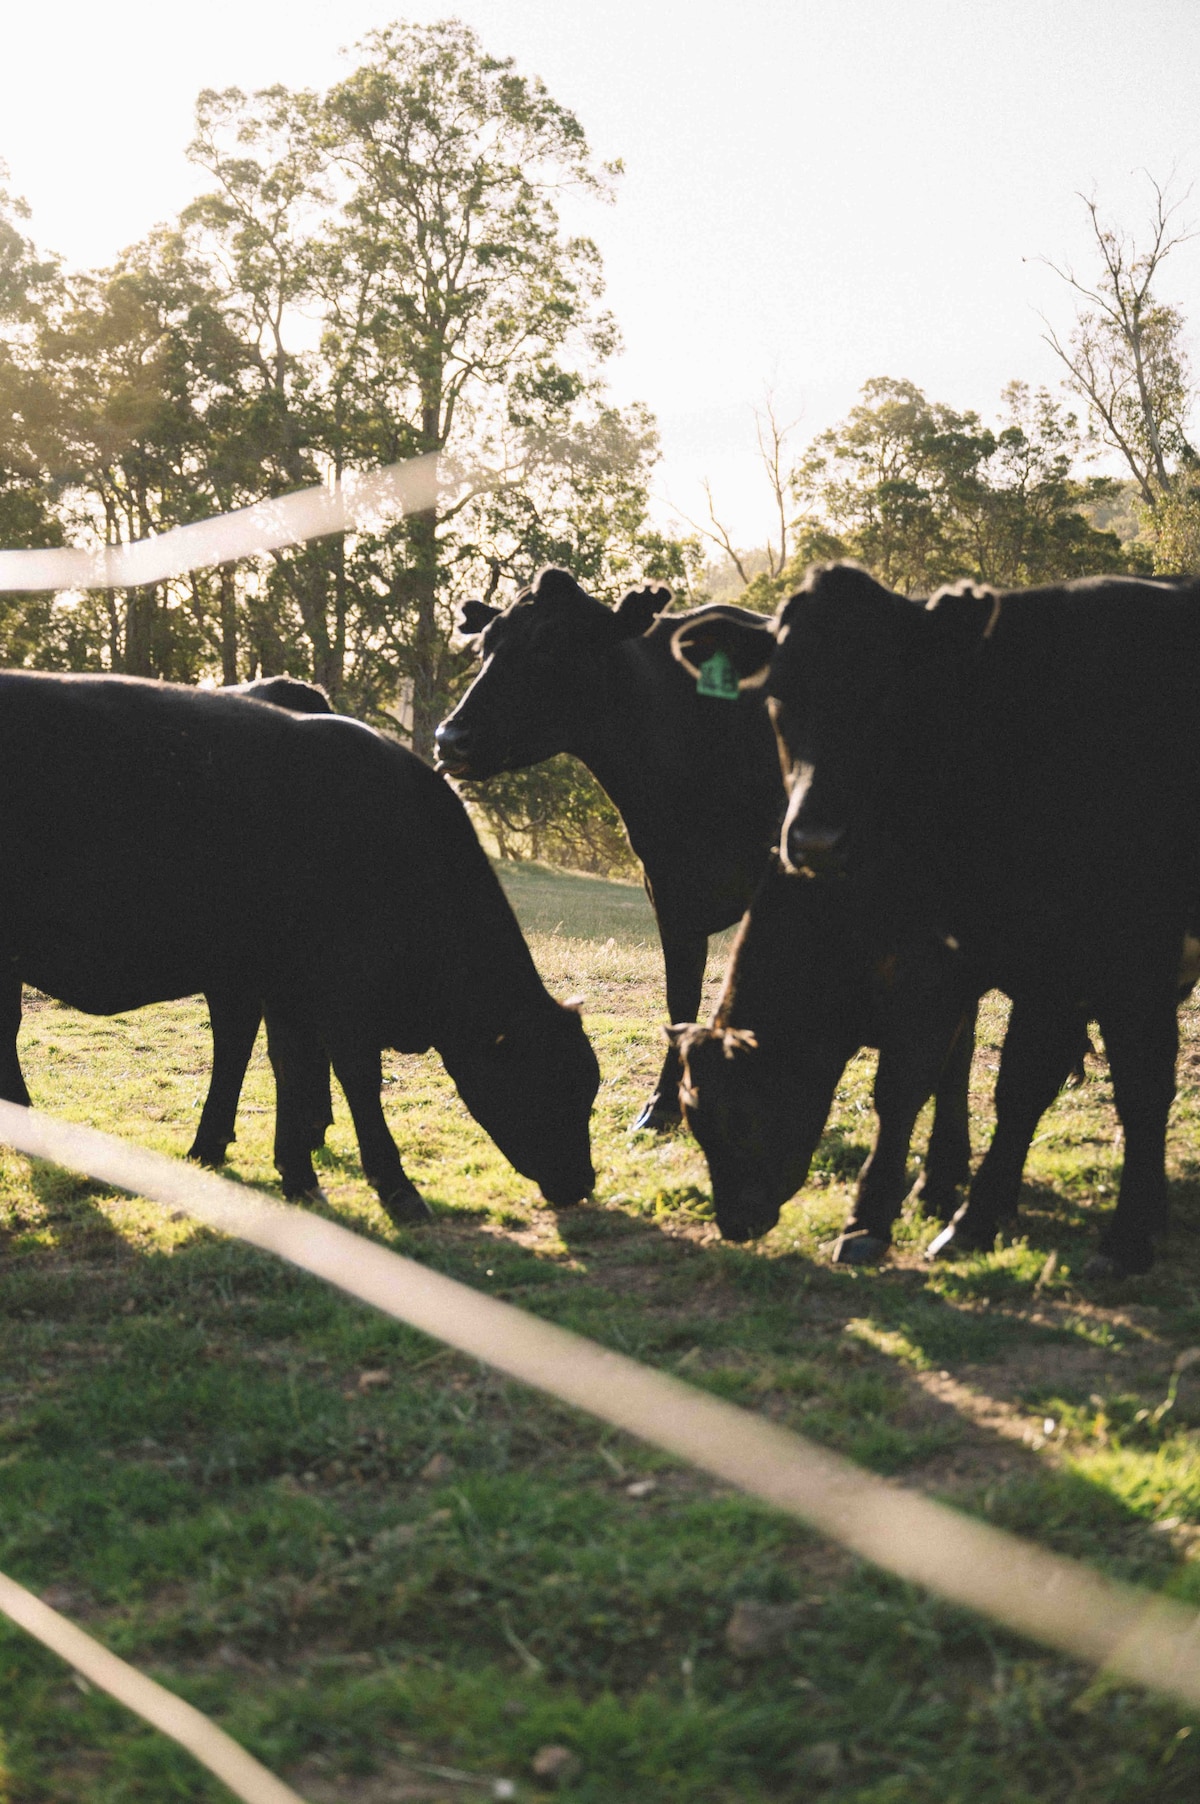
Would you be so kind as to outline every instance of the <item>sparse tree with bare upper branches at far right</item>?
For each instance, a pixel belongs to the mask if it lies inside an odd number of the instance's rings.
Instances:
[[[1155,292],[1162,265],[1195,233],[1178,220],[1187,198],[1171,200],[1149,177],[1153,206],[1148,236],[1139,240],[1101,218],[1095,197],[1081,195],[1099,256],[1085,280],[1070,265],[1047,265],[1074,289],[1083,310],[1063,339],[1047,327],[1047,343],[1066,370],[1066,384],[1086,400],[1103,442],[1126,464],[1146,512],[1158,512],[1196,456],[1187,440],[1193,382],[1184,316]]]

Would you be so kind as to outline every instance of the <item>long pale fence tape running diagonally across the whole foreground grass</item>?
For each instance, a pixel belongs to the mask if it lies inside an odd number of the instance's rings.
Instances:
[[[278,1254],[1007,1629],[1200,1707],[1200,1615],[1047,1553],[303,1209],[13,1102],[0,1140]]]

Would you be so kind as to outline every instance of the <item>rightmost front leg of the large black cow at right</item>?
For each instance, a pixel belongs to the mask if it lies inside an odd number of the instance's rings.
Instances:
[[[1124,1129],[1124,1165],[1117,1209],[1085,1277],[1128,1277],[1151,1268],[1153,1236],[1168,1225],[1166,1133],[1178,1055],[1175,999],[1108,1008],[1099,1025]]]

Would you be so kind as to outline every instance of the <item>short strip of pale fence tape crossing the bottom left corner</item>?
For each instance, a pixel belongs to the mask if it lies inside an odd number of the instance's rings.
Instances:
[[[267,1772],[253,1753],[226,1735],[224,1728],[217,1728],[175,1692],[155,1685],[137,1667],[117,1660],[74,1622],[67,1622],[56,1609],[51,1609],[13,1578],[5,1578],[4,1573],[0,1573],[0,1609],[34,1640],[69,1660],[76,1672],[81,1672],[92,1685],[106,1690],[117,1703],[144,1717],[146,1723],[153,1723],[180,1748],[193,1753],[200,1766],[208,1766],[209,1773],[227,1784],[235,1797],[244,1799],[244,1804],[305,1804],[298,1791]]]

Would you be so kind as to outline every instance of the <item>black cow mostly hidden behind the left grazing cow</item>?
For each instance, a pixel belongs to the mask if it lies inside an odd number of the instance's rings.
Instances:
[[[269,702],[272,707],[287,707],[296,714],[332,714],[325,689],[318,684],[300,682],[296,676],[258,676],[253,682],[231,684],[224,693],[244,695],[253,702]],[[213,848],[213,853],[220,855],[220,848]],[[262,1003],[256,996],[236,990],[213,992],[204,999],[213,1030],[213,1072],[188,1158],[195,1158],[200,1165],[224,1165],[229,1142],[236,1138],[238,1099],[262,1026]],[[20,1025],[22,978],[18,972],[5,972],[0,983],[0,1097],[5,1102],[27,1106],[29,1090],[16,1052]],[[318,1147],[325,1138],[325,1129],[334,1120],[328,1072],[323,1079],[318,1077],[316,1091],[307,1108],[312,1146]]]

